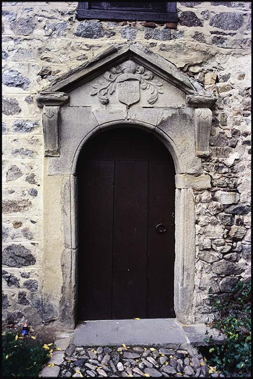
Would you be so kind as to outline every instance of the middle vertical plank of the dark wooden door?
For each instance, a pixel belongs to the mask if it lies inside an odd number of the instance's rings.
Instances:
[[[146,317],[147,162],[115,162],[113,319]]]

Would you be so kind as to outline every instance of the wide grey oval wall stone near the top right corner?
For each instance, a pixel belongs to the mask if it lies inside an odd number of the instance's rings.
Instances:
[[[223,30],[238,30],[243,24],[243,16],[239,13],[220,12],[210,20],[210,25]]]

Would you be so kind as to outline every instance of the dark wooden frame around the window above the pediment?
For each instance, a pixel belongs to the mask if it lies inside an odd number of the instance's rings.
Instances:
[[[157,12],[153,11],[138,11],[135,12],[130,10],[118,10],[114,9],[90,9],[91,2],[79,2],[77,10],[77,19],[99,19],[99,20],[137,20],[137,21],[152,21],[159,23],[173,22],[176,23],[178,20],[177,16],[177,2],[165,2],[165,11]],[[94,3],[94,2],[92,2]],[[110,2],[97,2],[102,5],[105,3],[105,7]],[[129,4],[126,0],[126,5]]]

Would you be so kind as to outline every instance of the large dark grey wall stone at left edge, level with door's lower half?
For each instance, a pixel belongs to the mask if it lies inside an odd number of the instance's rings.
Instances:
[[[3,250],[3,264],[10,267],[31,266],[36,263],[29,249],[21,244],[12,244]]]

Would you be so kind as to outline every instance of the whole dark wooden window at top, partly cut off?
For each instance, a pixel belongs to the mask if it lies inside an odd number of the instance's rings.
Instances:
[[[138,20],[153,22],[177,22],[177,3],[166,1],[109,1],[79,2],[78,20]]]

